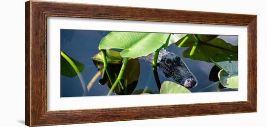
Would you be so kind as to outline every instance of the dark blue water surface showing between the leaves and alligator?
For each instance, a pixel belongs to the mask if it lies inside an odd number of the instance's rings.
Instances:
[[[91,58],[99,53],[98,46],[100,40],[108,33],[108,31],[61,30],[61,50],[67,53],[68,56],[85,65],[81,74],[86,85],[98,72],[98,69],[95,67]],[[218,38],[224,39],[226,42],[231,43],[234,46],[237,46],[238,44],[238,36],[220,35]],[[191,92],[217,92],[218,82],[214,83],[209,80],[210,70],[214,66],[214,63],[206,63],[184,58],[182,54],[186,48],[177,48],[175,44],[170,45],[166,49],[167,51],[180,56],[197,78],[198,85],[191,88]],[[143,60],[139,60],[139,62],[140,76],[135,90],[144,89],[147,86],[149,90],[158,91],[151,63]],[[171,78],[166,78],[160,68],[158,69],[158,72],[161,83],[165,80],[175,82],[175,80]],[[91,87],[89,95],[107,95],[108,92],[109,88],[107,85],[99,85],[98,81],[96,81]],[[80,79],[78,76],[73,78],[61,76],[61,97],[70,96],[83,96],[83,87]]]

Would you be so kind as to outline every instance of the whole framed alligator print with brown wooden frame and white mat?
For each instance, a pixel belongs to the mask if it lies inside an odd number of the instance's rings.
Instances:
[[[257,16],[26,2],[26,125],[257,111]]]

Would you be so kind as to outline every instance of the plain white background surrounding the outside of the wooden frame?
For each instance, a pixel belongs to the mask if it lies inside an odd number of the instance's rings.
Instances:
[[[54,1],[54,0],[53,0]],[[264,0],[58,0],[84,3],[258,15],[258,112],[72,125],[71,127],[266,127],[266,3]],[[24,0],[0,4],[0,125],[23,127],[25,119]],[[69,127],[70,125],[62,126]]]

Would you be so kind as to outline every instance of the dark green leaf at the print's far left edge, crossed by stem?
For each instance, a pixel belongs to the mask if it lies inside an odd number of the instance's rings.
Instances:
[[[60,60],[61,75],[65,77],[72,78],[80,74],[84,69],[83,63],[74,60],[63,51],[61,51]]]

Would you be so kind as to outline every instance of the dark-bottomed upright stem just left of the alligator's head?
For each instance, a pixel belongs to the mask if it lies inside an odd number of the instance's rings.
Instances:
[[[153,73],[154,73],[154,77],[155,77],[158,89],[160,90],[161,83],[160,83],[160,79],[159,79],[159,75],[158,75],[158,69],[157,69],[159,52],[160,52],[160,50],[157,50],[155,52],[154,59],[153,59],[153,62],[152,62],[152,67],[153,67]]]

